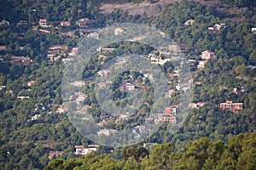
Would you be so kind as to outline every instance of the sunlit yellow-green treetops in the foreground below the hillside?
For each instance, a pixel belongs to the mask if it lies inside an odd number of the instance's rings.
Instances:
[[[254,169],[255,133],[241,133],[227,144],[201,138],[176,151],[172,143],[156,144],[148,154],[143,147],[130,146],[122,151],[122,160],[90,153],[77,159],[50,161],[45,170],[54,169]]]

